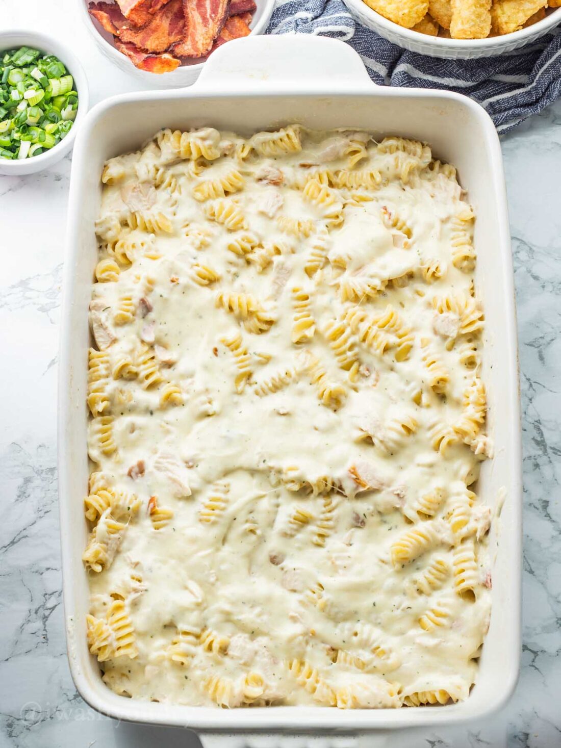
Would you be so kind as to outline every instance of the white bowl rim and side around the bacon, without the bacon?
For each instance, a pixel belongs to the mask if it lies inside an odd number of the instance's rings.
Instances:
[[[184,86],[192,85],[200,75],[200,71],[203,70],[206,58],[203,58],[202,62],[193,60],[192,62],[185,62],[180,67],[177,67],[171,73],[148,73],[147,70],[139,70],[135,67],[126,55],[115,49],[113,44],[113,37],[108,31],[105,31],[99,23],[92,18],[88,13],[88,0],[76,0],[79,4],[79,8],[82,12],[82,19],[85,25],[88,27],[93,36],[93,40],[99,47],[100,52],[105,55],[108,60],[111,60],[117,67],[123,70],[123,73],[129,73],[136,78],[143,81],[147,87],[150,88],[183,88]],[[275,7],[275,0],[255,0],[257,4],[257,10],[254,12],[254,17],[251,20],[250,36],[257,34],[263,34],[267,25],[269,25],[269,19],[272,16],[273,8]]]

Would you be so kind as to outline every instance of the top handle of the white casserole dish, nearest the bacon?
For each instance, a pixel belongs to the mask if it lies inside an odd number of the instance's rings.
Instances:
[[[194,88],[292,93],[368,91],[375,86],[354,49],[330,37],[283,34],[234,39],[212,52]]]

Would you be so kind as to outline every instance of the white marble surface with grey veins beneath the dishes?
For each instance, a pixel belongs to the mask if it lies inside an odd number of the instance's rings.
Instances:
[[[138,90],[97,52],[76,13],[79,1],[0,0],[0,28],[65,37],[85,64],[92,103]],[[503,154],[524,419],[521,678],[491,723],[408,735],[399,741],[408,748],[561,746],[561,102],[506,136]],[[184,730],[96,714],[68,670],[55,420],[69,174],[67,158],[42,174],[0,177],[0,747],[196,746]]]

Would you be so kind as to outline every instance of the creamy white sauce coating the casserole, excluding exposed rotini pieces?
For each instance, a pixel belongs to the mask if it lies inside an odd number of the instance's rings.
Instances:
[[[462,438],[439,453],[432,429],[459,423],[476,369],[460,361],[467,338],[458,332],[459,316],[438,315],[432,298],[471,298],[473,274],[453,265],[450,225],[467,203],[453,175],[426,168],[426,148],[415,156],[397,141],[396,152],[387,153],[370,140],[366,158],[350,171],[375,171],[380,185],[330,186],[340,217],[326,218],[330,209],[306,200],[302,186],[314,169],[336,177],[349,169],[351,135],[301,131],[301,151],[253,151],[242,159],[241,138],[209,132],[206,141],[218,150],[223,144],[227,155],[203,162],[198,175],[200,162],[178,157],[171,135],[159,136],[162,155],[155,141],[144,152],[111,159],[105,171],[100,259],[118,257],[124,246],[132,262],[121,254],[117,281],[93,286],[93,331],[111,372],[122,358],[138,369],[144,339],[153,343],[148,350],[162,377],[147,389],[138,377],[103,381],[109,405],[101,415],[113,417],[113,453],[100,449],[99,422],[91,422],[93,470],[104,485],[126,492],[129,504],[133,494],[139,500],[123,530],[110,537],[103,570],[89,572],[92,615],[105,620],[111,604],[123,599],[134,629],[135,656],[105,660],[105,681],[117,693],[191,705],[373,708],[444,691],[464,699],[488,626],[485,539],[473,541],[485,508],[476,511],[482,503],[475,498],[463,536],[451,529],[450,512],[476,478],[480,456]],[[267,133],[253,142],[263,152],[270,139]],[[355,134],[359,144],[365,139]],[[414,166],[402,179],[407,159]],[[208,218],[214,200],[192,195],[203,181],[233,171],[242,188],[222,200],[245,218],[245,228],[234,231]],[[129,208],[141,205],[150,205],[145,215],[162,212],[171,233],[126,227]],[[402,230],[391,227],[387,212],[403,221]],[[280,230],[279,217],[312,221],[310,235]],[[254,242],[248,254],[228,249],[248,233]],[[279,254],[272,251],[262,269],[256,258],[272,245]],[[309,275],[318,245],[325,262]],[[442,269],[432,282],[422,271],[429,261]],[[198,285],[196,263],[219,280]],[[365,280],[379,291],[343,301],[344,283]],[[294,288],[309,295],[315,325],[313,337],[300,343],[292,343]],[[217,304],[221,292],[251,294],[269,328],[248,330]],[[126,295],[131,319],[117,325],[114,314]],[[355,307],[380,317],[388,304],[411,328],[409,355],[396,361],[399,340],[391,335],[387,350],[377,353],[347,324],[357,362],[350,381],[325,326]],[[250,372],[240,381],[224,343],[237,333]],[[444,393],[431,387],[423,362],[429,351],[447,370]],[[340,402],[322,402],[310,357],[339,388]],[[268,382],[280,383],[278,391],[258,395]],[[164,407],[168,383],[177,385],[180,404]],[[408,419],[414,432],[400,426]],[[217,485],[221,511],[202,522]],[[420,497],[437,488],[444,499],[435,515],[418,515]],[[150,497],[173,512],[159,529]],[[295,518],[298,510],[304,524]],[[426,550],[411,562],[392,562],[392,545],[416,528],[430,534]],[[464,545],[474,542],[476,557],[473,593],[463,596],[453,575],[462,537]],[[447,573],[439,589],[423,594],[417,578],[436,560]],[[447,612],[444,624],[425,630],[420,620],[435,607]],[[206,651],[206,630],[222,637],[219,652]],[[298,664],[291,672],[292,660]]]

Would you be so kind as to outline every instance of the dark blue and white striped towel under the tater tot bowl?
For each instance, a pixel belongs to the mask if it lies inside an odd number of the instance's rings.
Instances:
[[[277,0],[268,34],[322,34],[349,43],[379,85],[446,88],[485,107],[498,132],[515,127],[561,96],[561,33],[479,60],[442,60],[408,52],[355,22],[342,0]]]

